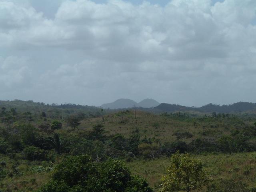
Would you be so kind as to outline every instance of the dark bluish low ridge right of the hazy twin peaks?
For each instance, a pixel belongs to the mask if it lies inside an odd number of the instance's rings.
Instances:
[[[207,104],[202,107],[186,107],[176,104],[161,103],[154,108],[158,112],[175,112],[175,111],[198,111],[198,112],[246,112],[256,111],[256,103],[238,102],[230,105]]]

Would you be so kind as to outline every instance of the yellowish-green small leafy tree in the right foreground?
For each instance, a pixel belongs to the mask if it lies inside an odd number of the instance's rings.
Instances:
[[[176,152],[172,155],[171,165],[163,178],[160,192],[199,190],[207,180],[208,176],[199,160],[191,158],[189,154]]]

